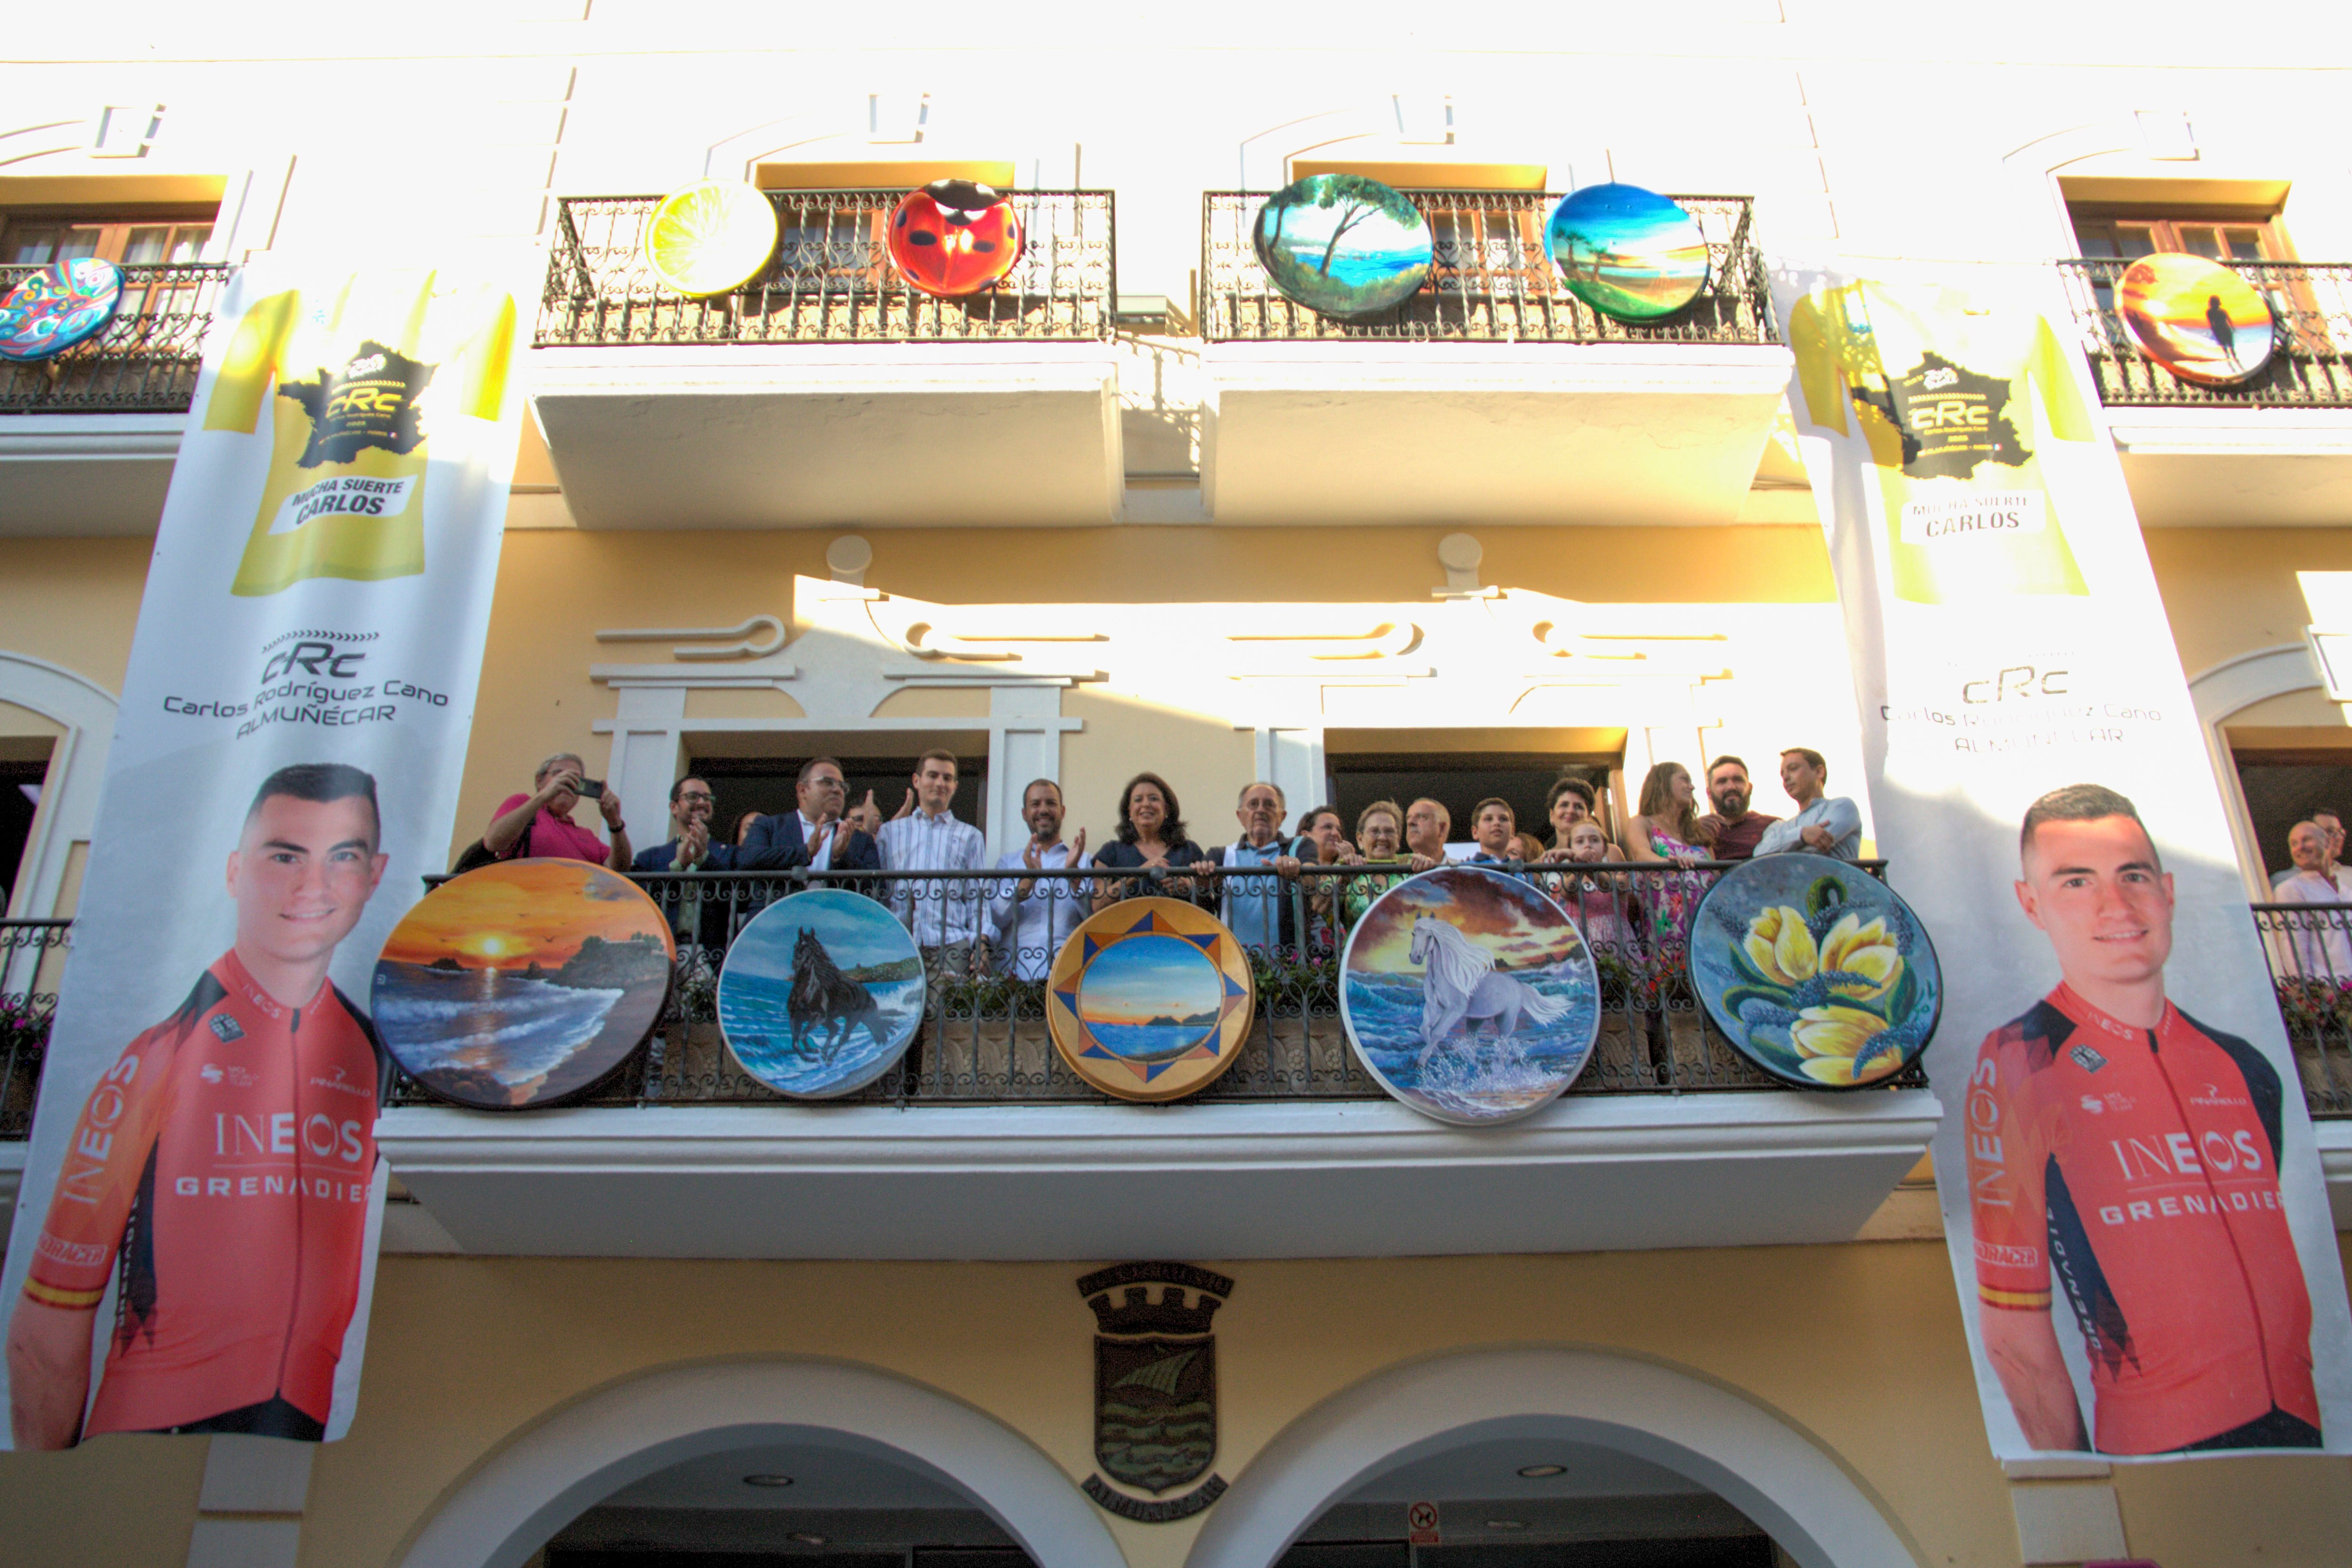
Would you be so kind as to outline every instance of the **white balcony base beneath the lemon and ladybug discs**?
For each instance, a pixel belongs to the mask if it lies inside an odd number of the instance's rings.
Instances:
[[[583,529],[1110,522],[1115,393],[1108,343],[532,353]]]

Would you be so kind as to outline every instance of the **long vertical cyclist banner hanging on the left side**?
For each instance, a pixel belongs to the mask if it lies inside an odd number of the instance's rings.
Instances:
[[[223,296],[0,1274],[14,1448],[350,1427],[386,1187],[362,1004],[447,858],[515,331],[482,275]]]

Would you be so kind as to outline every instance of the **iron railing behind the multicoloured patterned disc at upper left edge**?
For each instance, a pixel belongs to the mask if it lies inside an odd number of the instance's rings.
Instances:
[[[38,273],[0,266],[0,296]],[[0,360],[0,414],[186,414],[228,266],[122,268],[122,308],[92,341],[54,360]]]

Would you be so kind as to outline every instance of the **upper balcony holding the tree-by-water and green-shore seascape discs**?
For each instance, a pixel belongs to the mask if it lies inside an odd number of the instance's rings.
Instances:
[[[1251,247],[1268,190],[1202,200],[1202,503],[1218,522],[1733,522],[1790,355],[1748,197],[1677,195],[1708,287],[1625,324],[1543,247],[1557,193],[1406,190],[1430,282],[1371,317],[1275,292]]]

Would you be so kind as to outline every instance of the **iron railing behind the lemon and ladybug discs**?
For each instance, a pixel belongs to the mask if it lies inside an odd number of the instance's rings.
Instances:
[[[661,197],[572,195],[557,205],[539,348],[637,343],[1096,341],[1117,301],[1108,190],[1014,190],[1021,261],[967,299],[922,294],[889,261],[903,190],[769,190],[781,240],[767,268],[713,299],[673,294],[644,261]]]

